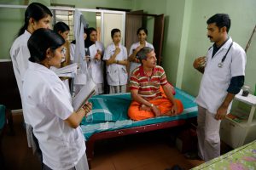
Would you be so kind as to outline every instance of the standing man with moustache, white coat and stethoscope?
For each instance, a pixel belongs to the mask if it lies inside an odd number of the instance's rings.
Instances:
[[[230,16],[214,14],[207,25],[207,36],[214,43],[207,56],[193,64],[203,73],[196,103],[198,156],[205,161],[220,155],[220,122],[230,113],[232,100],[241,90],[246,67],[245,51],[228,35]]]

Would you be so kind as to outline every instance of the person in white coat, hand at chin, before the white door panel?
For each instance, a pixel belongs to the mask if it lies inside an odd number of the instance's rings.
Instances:
[[[113,43],[108,46],[103,59],[107,63],[107,81],[109,85],[109,94],[118,94],[126,92],[128,65],[127,50],[121,41],[121,31],[114,28],[111,31]]]

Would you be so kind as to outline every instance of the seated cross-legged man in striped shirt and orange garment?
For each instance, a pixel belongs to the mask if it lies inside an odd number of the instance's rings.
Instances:
[[[174,99],[164,69],[156,65],[154,49],[144,47],[137,53],[137,57],[142,65],[131,72],[129,86],[132,102],[128,116],[139,121],[156,116],[181,114],[183,104]]]

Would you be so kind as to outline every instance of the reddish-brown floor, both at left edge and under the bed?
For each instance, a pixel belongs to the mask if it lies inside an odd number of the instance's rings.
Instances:
[[[3,139],[6,169],[40,169],[37,157],[27,148],[21,122],[21,115],[15,115],[15,136],[4,136]],[[168,133],[158,131],[97,142],[92,170],[165,170],[176,164],[189,169],[203,162],[185,159],[171,144]]]

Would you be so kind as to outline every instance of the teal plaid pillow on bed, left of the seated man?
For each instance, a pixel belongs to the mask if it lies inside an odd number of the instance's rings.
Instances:
[[[92,111],[87,114],[82,124],[88,122],[116,122],[129,119],[128,108],[131,104],[131,94],[96,95],[89,100]]]

